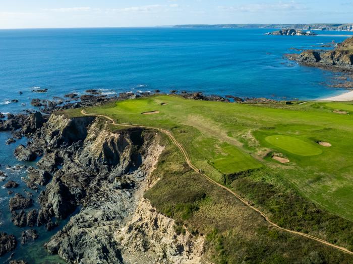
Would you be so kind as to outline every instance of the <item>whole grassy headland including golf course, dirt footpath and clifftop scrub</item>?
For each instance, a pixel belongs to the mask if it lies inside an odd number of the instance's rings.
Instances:
[[[326,255],[322,259],[348,263],[345,257],[353,252],[352,107],[154,95],[62,113],[101,117],[116,133],[142,127],[166,136],[167,148],[152,176],[158,183],[144,196],[177,221],[177,232],[188,227],[206,233],[216,263],[237,263],[234,257],[244,247],[234,248],[237,239],[248,241],[251,259],[263,259],[269,247],[278,251],[280,246],[284,255],[289,253],[273,262],[281,263],[315,247],[314,255]],[[239,228],[257,231],[239,233]],[[273,232],[280,235],[273,237]],[[298,235],[307,240],[292,247]],[[340,260],[337,249],[343,252]]]

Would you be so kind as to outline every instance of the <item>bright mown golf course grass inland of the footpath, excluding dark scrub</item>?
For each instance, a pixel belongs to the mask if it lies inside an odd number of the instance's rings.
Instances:
[[[353,118],[332,112],[351,106],[325,102],[231,104],[152,96],[87,112],[108,115],[117,122],[168,129],[187,149],[192,162],[220,183],[235,179],[230,176],[241,171],[279,170],[280,177],[301,195],[353,220]],[[160,113],[141,114],[148,111]],[[73,115],[79,115],[78,111]],[[282,139],[279,144],[271,141],[278,135]],[[323,147],[318,141],[332,147]],[[281,165],[269,158],[268,152],[282,153],[291,162]]]

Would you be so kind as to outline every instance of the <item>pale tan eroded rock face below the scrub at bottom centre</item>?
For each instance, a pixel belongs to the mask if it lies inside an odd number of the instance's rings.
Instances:
[[[120,244],[124,263],[201,263],[204,237],[192,235],[171,218],[156,212],[148,200],[142,199],[133,219],[114,238]],[[203,262],[205,263],[205,262]]]

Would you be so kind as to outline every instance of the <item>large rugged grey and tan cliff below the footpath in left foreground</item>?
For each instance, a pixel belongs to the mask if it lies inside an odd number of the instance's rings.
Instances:
[[[68,263],[199,262],[203,238],[175,233],[173,220],[143,198],[164,149],[160,137],[140,128],[112,132],[98,118],[51,115],[21,148],[42,156],[37,170],[51,175],[37,224],[49,230],[71,216],[45,244],[49,252]],[[25,181],[36,188],[41,181],[32,178]]]

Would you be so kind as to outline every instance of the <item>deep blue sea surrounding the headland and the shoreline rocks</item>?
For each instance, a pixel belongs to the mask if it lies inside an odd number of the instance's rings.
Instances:
[[[343,41],[341,32],[326,36],[265,36],[266,29],[31,29],[0,30],[0,112],[31,108],[32,98],[52,99],[73,91],[100,89],[106,94],[160,90],[200,91],[205,94],[274,99],[317,99],[342,93],[329,88],[329,71],[300,66],[283,58],[289,48],[318,48]],[[349,33],[343,33],[349,34]],[[329,36],[327,36],[329,35]],[[41,87],[45,94],[31,92]],[[22,95],[19,92],[23,92]],[[19,103],[10,103],[17,99]],[[24,106],[22,105],[24,104]],[[0,169],[20,187],[25,170],[7,165],[23,164],[13,157],[16,146],[6,146],[10,133],[0,133]],[[34,165],[27,163],[26,165]],[[5,181],[6,182],[6,181]],[[0,182],[0,187],[4,183]],[[33,193],[38,207],[37,193]],[[15,234],[20,242],[23,228],[10,221],[10,196],[0,188],[0,232]],[[62,223],[61,227],[65,224]],[[18,245],[14,258],[29,263],[57,263],[43,243],[51,233],[37,228],[39,239]],[[8,263],[11,254],[0,257]]]

